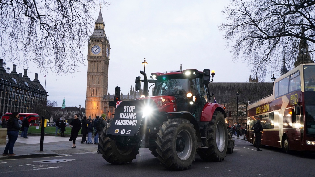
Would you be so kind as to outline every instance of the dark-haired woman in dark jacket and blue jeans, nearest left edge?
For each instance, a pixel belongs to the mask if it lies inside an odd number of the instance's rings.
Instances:
[[[13,112],[8,120],[7,127],[8,127],[8,138],[9,141],[5,146],[3,156],[15,156],[13,153],[13,146],[15,141],[18,139],[19,130],[21,127],[19,126],[18,122],[19,112]]]

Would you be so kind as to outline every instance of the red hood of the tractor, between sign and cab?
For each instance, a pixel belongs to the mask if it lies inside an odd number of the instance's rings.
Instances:
[[[154,101],[159,112],[177,111],[176,98],[174,96],[147,96],[136,100],[145,100],[148,103]]]

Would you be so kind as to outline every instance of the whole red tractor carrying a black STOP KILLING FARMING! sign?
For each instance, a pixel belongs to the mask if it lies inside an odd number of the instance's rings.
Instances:
[[[214,71],[157,72],[149,80],[140,73],[144,79],[136,78],[136,90],[144,82],[144,95],[117,107],[112,123],[100,135],[103,158],[112,164],[131,163],[139,148],[149,148],[163,167],[172,170],[188,169],[197,153],[205,161],[222,161],[230,142],[226,113],[209,99]],[[147,95],[148,83],[154,83],[153,96]]]

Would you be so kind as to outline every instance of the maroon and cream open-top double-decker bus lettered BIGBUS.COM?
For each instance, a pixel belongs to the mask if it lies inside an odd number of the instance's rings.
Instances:
[[[250,128],[261,120],[261,146],[286,153],[315,151],[315,64],[301,64],[273,85],[273,94],[248,104],[247,141],[255,146]]]

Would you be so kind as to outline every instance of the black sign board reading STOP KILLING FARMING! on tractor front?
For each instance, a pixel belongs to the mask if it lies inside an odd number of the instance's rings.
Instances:
[[[114,119],[106,133],[133,136],[140,128],[143,107],[144,100],[121,102],[116,108]]]

